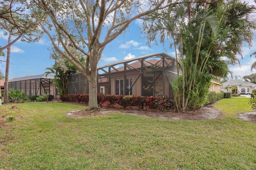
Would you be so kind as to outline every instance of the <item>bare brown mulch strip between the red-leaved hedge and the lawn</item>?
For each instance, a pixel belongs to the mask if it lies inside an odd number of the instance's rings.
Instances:
[[[79,105],[76,103],[76,105]],[[186,113],[178,113],[178,112],[166,112],[162,113],[161,111],[152,111],[152,110],[137,110],[137,109],[101,109],[99,111],[87,111],[87,110],[78,110],[71,111],[66,113],[67,116],[70,117],[92,117],[92,116],[105,116],[111,113],[124,113],[128,115],[134,116],[142,116],[142,117],[154,117],[154,118],[162,118],[162,119],[174,119],[174,120],[206,120],[206,119],[218,119],[222,116],[220,110],[214,108],[214,105],[207,105],[201,109],[188,111]]]

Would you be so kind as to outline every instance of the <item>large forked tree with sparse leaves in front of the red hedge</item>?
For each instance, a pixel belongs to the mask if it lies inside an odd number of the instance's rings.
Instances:
[[[97,64],[106,45],[123,34],[131,22],[143,18],[166,0],[31,0],[28,7],[54,49],[89,81],[89,107],[98,108]],[[81,63],[74,51],[86,58]]]

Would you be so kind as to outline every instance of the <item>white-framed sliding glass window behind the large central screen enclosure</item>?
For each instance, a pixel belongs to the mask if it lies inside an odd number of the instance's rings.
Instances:
[[[126,79],[126,93],[124,94],[124,79],[116,79],[116,95],[132,95],[132,78]]]

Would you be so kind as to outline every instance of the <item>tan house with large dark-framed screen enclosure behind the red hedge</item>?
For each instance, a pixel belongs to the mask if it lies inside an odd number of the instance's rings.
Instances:
[[[176,59],[152,53],[98,67],[98,93],[173,97],[172,79],[177,77]],[[68,94],[89,93],[82,73],[69,77]]]

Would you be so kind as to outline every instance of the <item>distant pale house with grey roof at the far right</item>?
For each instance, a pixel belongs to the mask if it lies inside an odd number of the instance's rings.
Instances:
[[[236,89],[231,89],[231,87],[236,87]],[[228,87],[228,89],[225,89],[225,87]],[[230,80],[226,81],[225,83],[222,83],[221,91],[224,92],[231,92],[234,93],[247,93],[249,91],[252,91],[253,89],[256,89],[256,84],[250,83],[248,81],[242,81],[242,80]]]

